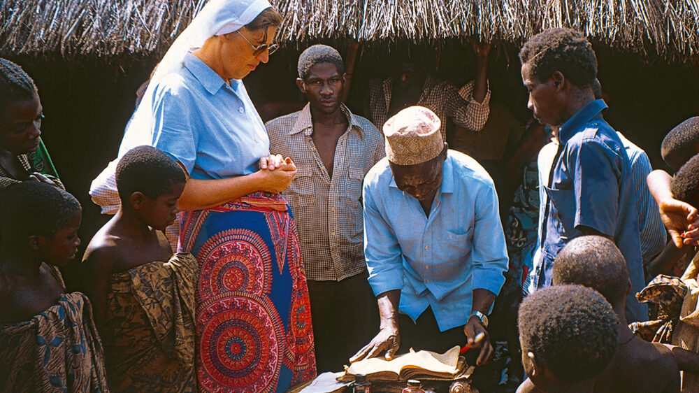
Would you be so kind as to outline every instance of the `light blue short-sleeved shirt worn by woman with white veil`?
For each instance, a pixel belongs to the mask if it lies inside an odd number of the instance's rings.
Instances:
[[[269,155],[269,138],[240,80],[228,85],[188,54],[153,94],[152,145],[196,179],[249,175]]]

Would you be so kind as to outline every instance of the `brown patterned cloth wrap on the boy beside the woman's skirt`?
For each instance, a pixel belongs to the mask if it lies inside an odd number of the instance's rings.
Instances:
[[[115,392],[196,392],[190,254],[110,277],[104,350]]]

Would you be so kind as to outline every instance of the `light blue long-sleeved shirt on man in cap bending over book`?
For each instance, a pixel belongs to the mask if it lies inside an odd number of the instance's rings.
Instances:
[[[427,217],[398,190],[388,159],[364,178],[364,255],[376,295],[401,290],[412,320],[431,306],[440,331],[466,324],[474,289],[500,292],[507,270],[498,196],[474,159],[449,150]]]

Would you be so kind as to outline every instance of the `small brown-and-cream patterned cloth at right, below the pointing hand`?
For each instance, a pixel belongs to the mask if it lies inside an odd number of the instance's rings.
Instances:
[[[657,317],[647,322],[633,322],[629,329],[645,341],[670,343],[672,329],[677,324],[687,286],[677,277],[660,274],[636,294],[640,303],[650,303]],[[651,308],[651,307],[649,307]],[[653,312],[653,311],[651,311]]]

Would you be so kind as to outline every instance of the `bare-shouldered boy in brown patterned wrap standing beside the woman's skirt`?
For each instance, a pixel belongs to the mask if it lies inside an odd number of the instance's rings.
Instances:
[[[161,232],[177,218],[185,173],[139,146],[116,170],[121,208],[92,238],[82,287],[94,304],[113,391],[188,392],[194,373],[196,259]]]

